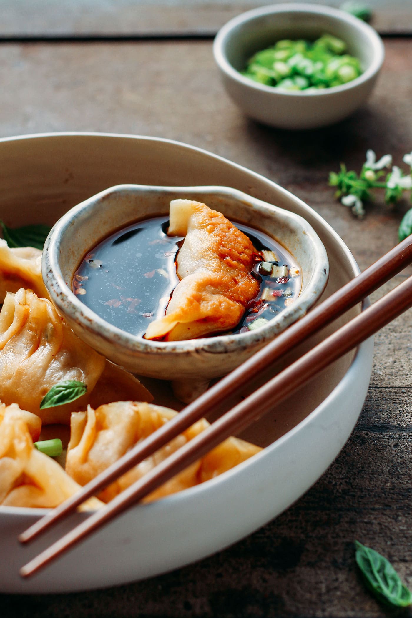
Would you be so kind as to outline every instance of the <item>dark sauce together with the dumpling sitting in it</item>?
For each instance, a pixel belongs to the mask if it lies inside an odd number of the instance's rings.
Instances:
[[[261,328],[300,289],[300,269],[277,240],[191,200],[106,237],[72,280],[103,320],[160,341]]]

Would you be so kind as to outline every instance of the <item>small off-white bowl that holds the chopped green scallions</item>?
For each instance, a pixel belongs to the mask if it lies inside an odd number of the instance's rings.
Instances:
[[[363,72],[342,86],[317,91],[287,91],[240,74],[256,51],[282,39],[315,40],[323,34],[347,43]],[[217,33],[214,58],[228,95],[245,114],[281,129],[316,129],[352,114],[366,101],[384,61],[384,44],[367,23],[319,4],[275,4],[253,9]]]

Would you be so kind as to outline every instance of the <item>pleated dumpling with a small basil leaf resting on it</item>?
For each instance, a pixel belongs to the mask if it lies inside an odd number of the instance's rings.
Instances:
[[[75,401],[40,410],[48,391],[76,380],[87,392]],[[43,425],[70,423],[70,412],[87,404],[119,399],[151,401],[149,391],[127,371],[112,365],[67,326],[46,298],[30,290],[7,294],[0,312],[0,400],[17,403]]]

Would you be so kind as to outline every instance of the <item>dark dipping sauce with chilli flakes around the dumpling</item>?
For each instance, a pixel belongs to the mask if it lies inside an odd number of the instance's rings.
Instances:
[[[267,260],[272,261],[272,273],[262,274],[257,256],[253,274],[260,290],[248,303],[240,323],[230,331],[238,333],[263,326],[264,321],[290,305],[300,293],[301,276],[296,261],[282,245],[252,227],[234,225],[250,238],[258,252],[268,250],[277,258]],[[164,316],[179,283],[175,260],[184,239],[167,236],[168,227],[167,216],[145,219],[99,242],[75,273],[72,287],[79,300],[103,320],[143,337],[148,324]],[[264,321],[252,326],[259,318]]]

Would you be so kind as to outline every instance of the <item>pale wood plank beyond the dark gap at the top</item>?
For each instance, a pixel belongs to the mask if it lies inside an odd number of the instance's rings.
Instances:
[[[281,0],[3,0],[2,36],[213,36],[235,15]],[[303,0],[310,2],[311,0]],[[338,7],[342,0],[319,4]],[[369,0],[372,25],[411,33],[409,0]]]

